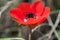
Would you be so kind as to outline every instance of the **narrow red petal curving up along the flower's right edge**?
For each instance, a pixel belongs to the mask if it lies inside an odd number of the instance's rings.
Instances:
[[[46,7],[42,16],[39,16],[39,14],[36,14],[38,16],[38,20],[35,24],[44,22],[46,20],[47,16],[49,15],[49,13],[50,13],[50,8]]]

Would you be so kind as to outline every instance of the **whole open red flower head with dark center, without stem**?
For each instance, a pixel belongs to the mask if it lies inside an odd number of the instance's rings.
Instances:
[[[50,8],[44,7],[44,3],[41,1],[32,4],[23,2],[10,10],[10,15],[13,19],[24,25],[41,23],[45,21],[49,13]]]

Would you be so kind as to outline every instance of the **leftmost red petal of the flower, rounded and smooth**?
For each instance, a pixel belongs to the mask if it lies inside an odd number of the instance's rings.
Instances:
[[[11,9],[10,10],[10,15],[13,18],[16,18],[16,19],[23,19],[24,18],[24,15],[23,15],[22,11],[18,8]]]

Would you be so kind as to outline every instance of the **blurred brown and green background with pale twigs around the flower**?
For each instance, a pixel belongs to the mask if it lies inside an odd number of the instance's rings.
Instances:
[[[0,40],[28,40],[28,26],[16,23],[9,15],[11,8],[24,1],[32,3],[38,0],[0,0]],[[45,22],[32,29],[32,40],[60,40],[60,0],[42,1],[46,6],[50,6],[51,12]]]

